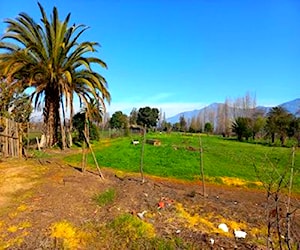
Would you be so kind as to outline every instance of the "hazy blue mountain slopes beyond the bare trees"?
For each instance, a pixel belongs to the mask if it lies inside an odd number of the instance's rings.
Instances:
[[[181,112],[177,115],[174,115],[172,117],[167,118],[167,122],[170,122],[172,124],[179,122],[179,118],[181,116],[184,116],[184,118],[186,120],[191,119],[192,117],[197,117],[199,115],[204,116],[204,114],[206,116],[208,116],[209,114],[217,114],[218,109],[224,106],[224,103],[212,103],[202,109],[195,109],[193,111],[186,111],[186,112]],[[300,98],[297,98],[295,100],[289,101],[289,102],[285,102],[282,104],[279,104],[278,106],[281,106],[283,108],[285,108],[288,112],[290,112],[293,115],[296,116],[300,116],[299,110],[300,110]],[[260,110],[264,111],[264,113],[268,113],[269,110],[272,107],[264,107],[264,106],[258,106],[257,108],[259,108]],[[297,113],[298,112],[298,113]]]

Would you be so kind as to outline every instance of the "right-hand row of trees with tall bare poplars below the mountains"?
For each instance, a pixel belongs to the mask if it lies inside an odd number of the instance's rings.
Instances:
[[[236,135],[238,140],[264,138],[274,143],[280,140],[285,145],[286,138],[295,138],[300,145],[300,118],[290,114],[282,107],[268,111],[256,107],[256,97],[246,93],[234,101],[226,99],[224,104],[214,104],[196,116],[170,124],[165,119],[159,127],[165,131],[205,132],[223,136]]]

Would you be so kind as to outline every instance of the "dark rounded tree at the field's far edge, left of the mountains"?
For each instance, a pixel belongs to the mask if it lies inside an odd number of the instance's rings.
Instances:
[[[159,110],[157,108],[144,107],[140,108],[137,116],[137,124],[147,128],[156,127]]]

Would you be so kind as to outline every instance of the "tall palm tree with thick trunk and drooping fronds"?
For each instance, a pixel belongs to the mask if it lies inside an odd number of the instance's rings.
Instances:
[[[68,109],[72,114],[74,95],[86,107],[95,100],[105,108],[110,102],[106,80],[91,68],[92,64],[107,68],[105,62],[91,57],[99,46],[96,42],[79,42],[88,28],[84,25],[69,26],[70,13],[59,20],[57,8],[53,8],[50,20],[38,3],[42,19],[36,23],[26,13],[5,20],[7,31],[0,41],[0,68],[12,87],[34,87],[32,100],[35,108],[42,106],[47,142],[57,142],[58,129],[63,128],[60,114]],[[59,126],[61,125],[61,126]]]

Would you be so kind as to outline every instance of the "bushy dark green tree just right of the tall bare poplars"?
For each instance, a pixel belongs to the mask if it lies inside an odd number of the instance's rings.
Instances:
[[[237,117],[232,123],[232,131],[237,135],[239,141],[245,138],[247,141],[252,134],[251,119],[249,117]]]

